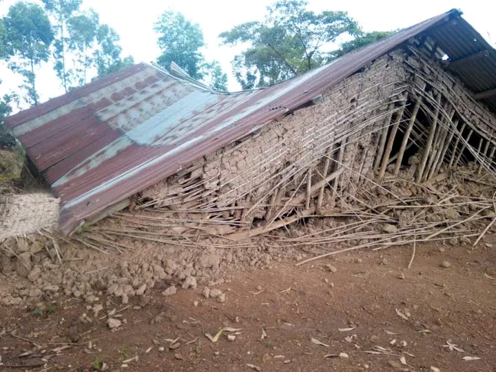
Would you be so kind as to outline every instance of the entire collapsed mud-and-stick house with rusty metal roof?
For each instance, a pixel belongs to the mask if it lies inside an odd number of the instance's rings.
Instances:
[[[4,203],[4,237],[236,244],[312,217],[347,218],[316,244],[477,237],[495,215],[495,71],[458,10],[259,90],[134,65],[6,118],[59,199],[58,221],[24,231]]]

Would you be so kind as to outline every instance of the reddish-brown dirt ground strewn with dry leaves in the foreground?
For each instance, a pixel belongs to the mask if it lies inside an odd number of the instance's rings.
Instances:
[[[0,307],[0,371],[496,371],[492,240],[417,247],[411,269],[397,247],[231,273],[225,302],[156,285],[98,316],[73,297]]]

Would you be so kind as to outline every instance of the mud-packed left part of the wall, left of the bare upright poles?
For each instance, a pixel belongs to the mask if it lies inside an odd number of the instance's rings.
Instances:
[[[389,112],[398,110],[395,102],[408,85],[403,61],[399,51],[382,56],[324,92],[317,105],[268,123],[205,156],[191,172],[145,190],[143,198],[152,200],[145,206],[217,214],[249,226],[313,207],[313,198],[302,196],[328,186],[315,187],[340,168],[335,188],[353,192],[371,170],[376,132]]]

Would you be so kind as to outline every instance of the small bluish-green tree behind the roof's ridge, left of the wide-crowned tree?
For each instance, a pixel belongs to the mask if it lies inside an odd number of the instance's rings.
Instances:
[[[158,48],[162,54],[157,63],[170,68],[172,62],[194,79],[203,80],[217,90],[227,90],[227,75],[218,61],[205,61],[200,48],[205,46],[203,31],[198,23],[192,23],[179,12],[167,11],[154,24],[158,33]]]

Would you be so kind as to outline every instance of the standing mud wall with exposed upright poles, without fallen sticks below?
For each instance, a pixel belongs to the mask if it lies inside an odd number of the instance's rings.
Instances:
[[[316,101],[146,189],[138,209],[215,220],[215,234],[258,234],[346,209],[364,183],[426,182],[473,161],[479,172],[493,169],[495,116],[418,45],[382,56]]]

